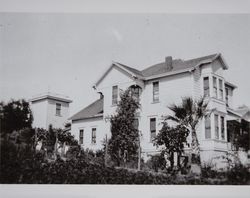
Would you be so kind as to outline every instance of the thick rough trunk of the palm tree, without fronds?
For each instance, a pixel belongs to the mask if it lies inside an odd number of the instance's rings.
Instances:
[[[196,130],[192,129],[192,144],[191,144],[191,173],[201,174],[200,147],[196,134]]]

